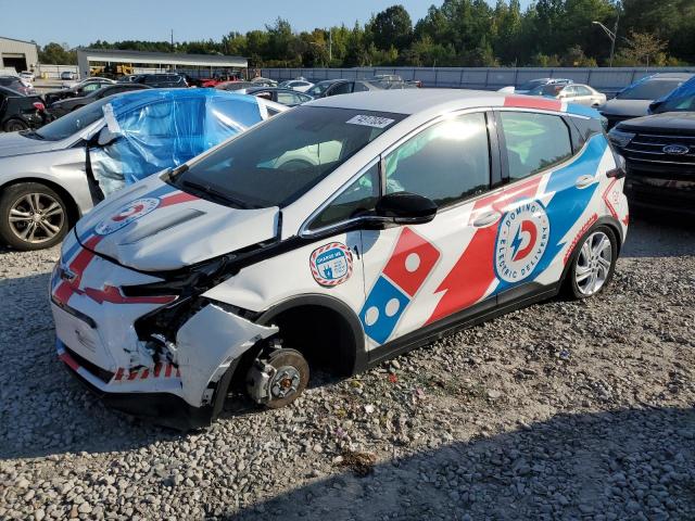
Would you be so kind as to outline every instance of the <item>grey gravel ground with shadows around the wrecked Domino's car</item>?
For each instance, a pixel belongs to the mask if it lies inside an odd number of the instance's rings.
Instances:
[[[181,435],[61,367],[58,250],[0,251],[0,519],[695,519],[695,228],[516,312]]]

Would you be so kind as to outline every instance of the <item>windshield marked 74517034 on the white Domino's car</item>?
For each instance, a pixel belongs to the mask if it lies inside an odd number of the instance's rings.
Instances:
[[[176,183],[233,206],[287,206],[404,117],[300,106],[193,163]]]

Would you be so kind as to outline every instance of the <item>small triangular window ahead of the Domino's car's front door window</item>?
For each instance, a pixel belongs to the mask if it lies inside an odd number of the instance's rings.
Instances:
[[[379,164],[376,163],[350,185],[312,221],[317,230],[374,212],[379,199]]]

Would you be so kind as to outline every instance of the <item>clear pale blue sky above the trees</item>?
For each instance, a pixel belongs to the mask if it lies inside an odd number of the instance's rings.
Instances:
[[[172,29],[175,41],[219,39],[231,30],[263,28],[278,16],[294,30],[351,27],[394,3],[415,23],[442,0],[0,0],[0,36],[71,47],[99,39],[168,41]],[[529,3],[521,0],[525,9]]]

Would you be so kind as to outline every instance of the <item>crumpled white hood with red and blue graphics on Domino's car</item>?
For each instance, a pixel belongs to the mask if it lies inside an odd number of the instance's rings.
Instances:
[[[165,271],[268,241],[278,215],[223,206],[152,176],[100,203],[75,230],[83,246],[123,266]]]

